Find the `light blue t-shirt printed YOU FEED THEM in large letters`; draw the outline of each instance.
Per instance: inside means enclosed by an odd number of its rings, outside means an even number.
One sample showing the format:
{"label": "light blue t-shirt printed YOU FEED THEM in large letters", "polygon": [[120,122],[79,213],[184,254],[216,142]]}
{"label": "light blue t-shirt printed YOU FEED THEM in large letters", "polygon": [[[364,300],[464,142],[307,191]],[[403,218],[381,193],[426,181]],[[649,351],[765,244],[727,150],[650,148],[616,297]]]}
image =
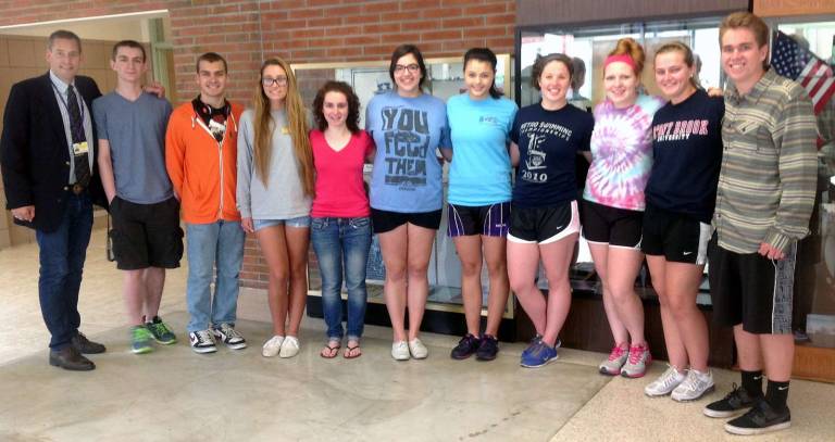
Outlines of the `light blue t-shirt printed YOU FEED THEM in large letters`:
{"label": "light blue t-shirt printed YOU FEED THEM in large letters", "polygon": [[444,101],[427,93],[415,98],[397,92],[376,96],[365,110],[365,130],[377,147],[371,206],[400,213],[440,210],[437,149],[450,146]]}

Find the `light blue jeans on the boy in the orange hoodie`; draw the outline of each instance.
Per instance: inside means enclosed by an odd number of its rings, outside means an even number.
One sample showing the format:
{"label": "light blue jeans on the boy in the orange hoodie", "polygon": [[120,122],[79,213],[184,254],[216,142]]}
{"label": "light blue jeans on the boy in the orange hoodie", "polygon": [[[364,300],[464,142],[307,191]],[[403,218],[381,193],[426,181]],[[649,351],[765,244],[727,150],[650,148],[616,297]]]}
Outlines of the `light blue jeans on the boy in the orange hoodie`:
{"label": "light blue jeans on the boy in the orange hoodie", "polygon": [[240,291],[238,276],[244,263],[244,229],[240,228],[239,222],[186,224],[186,304],[190,316],[187,326],[189,333],[223,323],[235,325]]}

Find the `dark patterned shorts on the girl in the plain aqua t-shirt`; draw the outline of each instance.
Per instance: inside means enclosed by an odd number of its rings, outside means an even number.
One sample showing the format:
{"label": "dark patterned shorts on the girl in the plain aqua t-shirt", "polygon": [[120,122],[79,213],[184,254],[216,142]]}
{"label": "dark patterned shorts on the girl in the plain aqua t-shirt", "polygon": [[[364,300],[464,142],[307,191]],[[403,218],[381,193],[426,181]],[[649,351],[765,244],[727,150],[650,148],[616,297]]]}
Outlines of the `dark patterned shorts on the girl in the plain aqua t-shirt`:
{"label": "dark patterned shorts on the girl in the plain aqua t-shirt", "polygon": [[447,235],[450,237],[508,236],[510,228],[510,202],[471,206],[447,205]]}

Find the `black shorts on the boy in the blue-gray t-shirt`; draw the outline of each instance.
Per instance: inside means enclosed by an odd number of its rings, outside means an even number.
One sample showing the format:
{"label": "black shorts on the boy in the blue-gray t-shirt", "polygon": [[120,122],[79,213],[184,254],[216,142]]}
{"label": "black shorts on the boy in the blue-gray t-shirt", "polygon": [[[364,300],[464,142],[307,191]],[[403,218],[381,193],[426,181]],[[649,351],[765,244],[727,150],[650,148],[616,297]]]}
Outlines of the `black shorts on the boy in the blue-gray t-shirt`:
{"label": "black shorts on the boy in the blue-gray t-shirt", "polygon": [[179,202],[174,197],[154,204],[136,204],[115,197],[110,203],[110,216],[116,268],[179,267],[183,229]]}

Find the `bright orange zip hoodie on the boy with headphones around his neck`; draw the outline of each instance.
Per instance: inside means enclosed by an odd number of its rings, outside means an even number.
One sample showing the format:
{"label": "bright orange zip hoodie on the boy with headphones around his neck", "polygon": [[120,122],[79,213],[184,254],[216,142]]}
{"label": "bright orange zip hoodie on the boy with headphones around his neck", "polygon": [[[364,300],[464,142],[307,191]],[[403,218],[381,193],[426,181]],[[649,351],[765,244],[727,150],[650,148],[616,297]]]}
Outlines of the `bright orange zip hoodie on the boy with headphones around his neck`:
{"label": "bright orange zip hoodie on the boy with headphones around his neck", "polygon": [[165,166],[183,206],[183,219],[209,224],[240,220],[235,203],[238,119],[244,108],[232,104],[223,142],[217,142],[191,102],[177,106],[165,134]]}

